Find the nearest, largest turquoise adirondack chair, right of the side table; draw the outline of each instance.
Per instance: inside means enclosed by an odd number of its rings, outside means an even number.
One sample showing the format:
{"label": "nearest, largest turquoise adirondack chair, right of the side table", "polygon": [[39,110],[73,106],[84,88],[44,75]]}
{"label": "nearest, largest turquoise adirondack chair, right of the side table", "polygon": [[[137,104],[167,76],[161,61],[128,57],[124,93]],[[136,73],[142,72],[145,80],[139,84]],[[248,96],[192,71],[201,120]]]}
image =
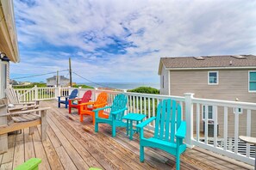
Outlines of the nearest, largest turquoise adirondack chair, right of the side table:
{"label": "nearest, largest turquoise adirondack chair, right of the side table", "polygon": [[[143,128],[155,120],[154,136],[143,137]],[[140,129],[140,161],[144,161],[144,147],[165,150],[176,156],[176,169],[179,169],[179,156],[185,151],[183,139],[186,134],[186,122],[181,120],[181,107],[175,100],[163,100],[159,103],[157,117],[148,118],[137,124]],[[176,139],[176,140],[175,140]]]}

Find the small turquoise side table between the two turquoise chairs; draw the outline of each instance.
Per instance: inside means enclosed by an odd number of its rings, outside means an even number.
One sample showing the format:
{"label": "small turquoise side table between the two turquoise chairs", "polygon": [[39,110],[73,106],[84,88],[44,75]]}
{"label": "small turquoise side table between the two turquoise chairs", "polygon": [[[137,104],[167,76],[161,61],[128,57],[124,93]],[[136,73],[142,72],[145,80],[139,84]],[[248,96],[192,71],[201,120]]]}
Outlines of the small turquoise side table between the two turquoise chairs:
{"label": "small turquoise side table between the two turquoise chairs", "polygon": [[123,119],[127,120],[126,135],[128,136],[128,133],[130,133],[130,140],[133,140],[134,131],[138,132],[137,128],[136,129],[133,128],[133,122],[136,121],[137,124],[139,124],[139,122],[142,122],[143,118],[145,117],[146,117],[145,114],[139,114],[134,112],[130,112],[127,115],[122,117]]}

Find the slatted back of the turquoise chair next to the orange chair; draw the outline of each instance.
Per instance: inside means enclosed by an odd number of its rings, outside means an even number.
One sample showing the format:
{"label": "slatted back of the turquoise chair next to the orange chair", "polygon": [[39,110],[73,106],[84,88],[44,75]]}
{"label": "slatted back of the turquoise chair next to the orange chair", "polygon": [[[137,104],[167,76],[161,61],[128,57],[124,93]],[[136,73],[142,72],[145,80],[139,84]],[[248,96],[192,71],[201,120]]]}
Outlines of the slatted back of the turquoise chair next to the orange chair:
{"label": "slatted back of the turquoise chair next to the orange chair", "polygon": [[[110,111],[110,114],[109,114],[109,118],[111,118],[111,112],[116,112],[118,110],[121,110],[123,108],[126,108],[127,106],[127,96],[125,94],[117,94],[114,101],[113,101],[113,104],[111,106],[111,111]],[[120,112],[119,114],[116,115],[116,120],[118,121],[122,121],[122,117],[124,115],[124,112]]]}

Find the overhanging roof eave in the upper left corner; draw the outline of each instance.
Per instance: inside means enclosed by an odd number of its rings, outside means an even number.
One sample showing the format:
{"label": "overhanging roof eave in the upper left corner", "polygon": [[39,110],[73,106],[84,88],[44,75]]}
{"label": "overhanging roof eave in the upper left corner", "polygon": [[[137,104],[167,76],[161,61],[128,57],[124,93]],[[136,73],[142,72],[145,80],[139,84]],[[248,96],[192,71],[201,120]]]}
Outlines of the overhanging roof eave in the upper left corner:
{"label": "overhanging roof eave in the upper left corner", "polygon": [[0,0],[0,52],[4,52],[12,62],[19,62],[16,24],[13,1]]}

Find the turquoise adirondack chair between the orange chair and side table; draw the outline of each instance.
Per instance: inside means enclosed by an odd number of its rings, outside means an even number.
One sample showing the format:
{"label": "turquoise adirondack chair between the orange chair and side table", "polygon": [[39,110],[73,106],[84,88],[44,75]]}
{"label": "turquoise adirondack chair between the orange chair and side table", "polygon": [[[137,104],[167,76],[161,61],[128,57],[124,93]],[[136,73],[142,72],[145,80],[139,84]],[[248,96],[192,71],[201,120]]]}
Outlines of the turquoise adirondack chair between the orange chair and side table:
{"label": "turquoise adirondack chair between the orange chair and side table", "polygon": [[[110,108],[109,118],[99,118],[98,112]],[[124,112],[127,110],[127,96],[125,94],[117,94],[112,106],[105,106],[93,110],[95,112],[95,132],[98,131],[98,124],[109,124],[112,126],[112,137],[116,137],[116,127],[126,127],[126,123],[122,121]]]}

